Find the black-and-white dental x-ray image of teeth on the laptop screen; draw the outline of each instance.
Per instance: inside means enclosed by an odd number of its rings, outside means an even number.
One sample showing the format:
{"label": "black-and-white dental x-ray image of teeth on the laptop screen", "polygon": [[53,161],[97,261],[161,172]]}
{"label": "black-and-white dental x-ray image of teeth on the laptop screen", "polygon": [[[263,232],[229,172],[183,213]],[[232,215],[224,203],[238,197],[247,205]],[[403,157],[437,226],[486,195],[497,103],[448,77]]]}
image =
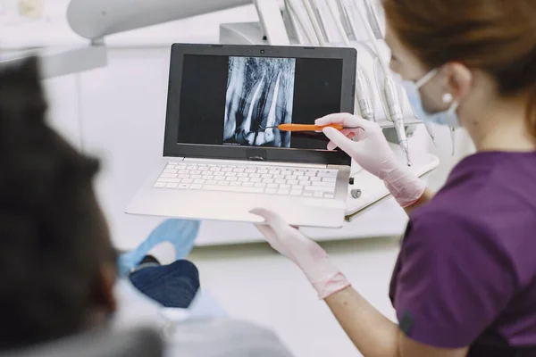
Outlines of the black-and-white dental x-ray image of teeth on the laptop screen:
{"label": "black-and-white dental x-ray image of teeth on the laptop screen", "polygon": [[230,57],[223,144],[290,147],[296,60]]}

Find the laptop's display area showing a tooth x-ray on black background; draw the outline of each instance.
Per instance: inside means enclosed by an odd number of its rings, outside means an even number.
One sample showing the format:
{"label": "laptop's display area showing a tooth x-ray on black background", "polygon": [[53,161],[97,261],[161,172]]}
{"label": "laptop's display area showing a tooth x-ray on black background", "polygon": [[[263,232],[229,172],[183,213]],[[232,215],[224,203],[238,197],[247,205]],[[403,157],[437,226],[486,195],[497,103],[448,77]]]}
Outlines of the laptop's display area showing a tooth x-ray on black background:
{"label": "laptop's display area showing a tooth x-ray on black background", "polygon": [[340,112],[341,59],[184,57],[178,142],[325,150],[321,133],[286,132]]}

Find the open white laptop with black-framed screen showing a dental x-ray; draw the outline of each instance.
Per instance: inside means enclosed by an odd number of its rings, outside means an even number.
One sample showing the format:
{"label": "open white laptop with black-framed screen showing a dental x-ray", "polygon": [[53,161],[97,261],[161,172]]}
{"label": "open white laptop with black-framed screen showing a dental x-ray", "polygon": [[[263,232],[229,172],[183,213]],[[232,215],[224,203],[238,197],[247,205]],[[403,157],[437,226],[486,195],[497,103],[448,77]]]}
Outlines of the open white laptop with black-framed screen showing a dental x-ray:
{"label": "open white laptop with black-framed screen showing a dental x-ray", "polygon": [[299,46],[172,46],[163,159],[126,212],[338,228],[351,160],[314,124],[353,112],[356,51]]}

